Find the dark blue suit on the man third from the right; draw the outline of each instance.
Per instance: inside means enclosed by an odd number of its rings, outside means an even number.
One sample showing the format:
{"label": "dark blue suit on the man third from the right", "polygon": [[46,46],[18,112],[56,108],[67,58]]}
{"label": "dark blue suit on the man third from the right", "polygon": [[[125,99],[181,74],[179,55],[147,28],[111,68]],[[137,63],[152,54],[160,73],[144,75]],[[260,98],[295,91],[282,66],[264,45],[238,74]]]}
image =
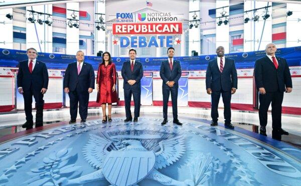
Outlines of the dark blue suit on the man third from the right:
{"label": "dark blue suit on the man third from the right", "polygon": [[[173,68],[171,69],[169,61],[164,60],[161,62],[160,67],[160,77],[163,80],[162,83],[162,93],[163,93],[163,117],[167,119],[167,108],[168,108],[168,99],[171,93],[172,104],[173,104],[173,117],[174,120],[178,119],[178,88],[179,88],[179,79],[182,75],[181,64],[179,60],[174,60]],[[169,87],[166,83],[167,81],[175,81],[173,87]]]}

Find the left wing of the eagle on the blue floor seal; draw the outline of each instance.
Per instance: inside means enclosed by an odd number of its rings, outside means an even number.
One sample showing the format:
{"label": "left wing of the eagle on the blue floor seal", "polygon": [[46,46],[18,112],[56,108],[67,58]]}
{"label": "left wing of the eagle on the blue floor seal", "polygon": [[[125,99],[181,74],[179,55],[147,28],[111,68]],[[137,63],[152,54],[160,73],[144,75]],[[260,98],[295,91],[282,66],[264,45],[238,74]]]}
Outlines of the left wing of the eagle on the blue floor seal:
{"label": "left wing of the eagle on the blue floor seal", "polygon": [[102,133],[90,134],[88,143],[83,148],[85,159],[95,168],[101,167],[106,155],[109,153],[107,147],[113,143]]}

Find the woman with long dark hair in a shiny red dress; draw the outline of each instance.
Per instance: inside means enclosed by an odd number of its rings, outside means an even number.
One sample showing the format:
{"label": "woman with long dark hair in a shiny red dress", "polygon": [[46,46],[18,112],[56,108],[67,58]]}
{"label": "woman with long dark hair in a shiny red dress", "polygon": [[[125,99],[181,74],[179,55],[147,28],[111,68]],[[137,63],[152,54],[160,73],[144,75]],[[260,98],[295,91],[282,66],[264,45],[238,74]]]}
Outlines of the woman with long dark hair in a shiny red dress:
{"label": "woman with long dark hair in a shiny red dress", "polygon": [[[102,54],[102,63],[99,63],[97,72],[97,100],[101,102],[103,118],[102,122],[112,121],[111,110],[112,102],[117,102],[116,92],[116,66],[112,63],[111,55],[109,52]],[[106,115],[106,103],[108,103],[109,113]]]}

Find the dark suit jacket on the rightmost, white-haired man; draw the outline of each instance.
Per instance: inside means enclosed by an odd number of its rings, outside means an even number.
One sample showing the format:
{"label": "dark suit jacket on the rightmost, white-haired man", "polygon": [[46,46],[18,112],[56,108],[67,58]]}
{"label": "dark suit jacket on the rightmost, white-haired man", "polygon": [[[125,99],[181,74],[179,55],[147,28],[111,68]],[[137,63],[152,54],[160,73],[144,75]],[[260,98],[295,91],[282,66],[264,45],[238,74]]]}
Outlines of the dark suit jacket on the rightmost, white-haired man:
{"label": "dark suit jacket on the rightmost, white-haired man", "polygon": [[263,87],[265,91],[285,91],[285,87],[292,87],[290,72],[285,58],[277,57],[278,69],[268,56],[255,61],[254,76],[257,89]]}

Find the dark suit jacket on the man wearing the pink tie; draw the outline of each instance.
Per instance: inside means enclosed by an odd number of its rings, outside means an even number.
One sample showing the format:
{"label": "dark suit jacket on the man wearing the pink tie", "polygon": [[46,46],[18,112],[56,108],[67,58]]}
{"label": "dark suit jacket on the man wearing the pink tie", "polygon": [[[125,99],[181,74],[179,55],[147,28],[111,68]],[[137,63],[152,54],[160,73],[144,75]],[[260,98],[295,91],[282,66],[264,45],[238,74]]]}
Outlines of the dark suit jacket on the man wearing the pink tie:
{"label": "dark suit jacket on the man wearing the pink tie", "polygon": [[79,91],[94,89],[95,73],[91,64],[83,62],[80,73],[77,74],[77,62],[69,63],[65,71],[64,88],[68,87],[71,91],[78,86]]}

